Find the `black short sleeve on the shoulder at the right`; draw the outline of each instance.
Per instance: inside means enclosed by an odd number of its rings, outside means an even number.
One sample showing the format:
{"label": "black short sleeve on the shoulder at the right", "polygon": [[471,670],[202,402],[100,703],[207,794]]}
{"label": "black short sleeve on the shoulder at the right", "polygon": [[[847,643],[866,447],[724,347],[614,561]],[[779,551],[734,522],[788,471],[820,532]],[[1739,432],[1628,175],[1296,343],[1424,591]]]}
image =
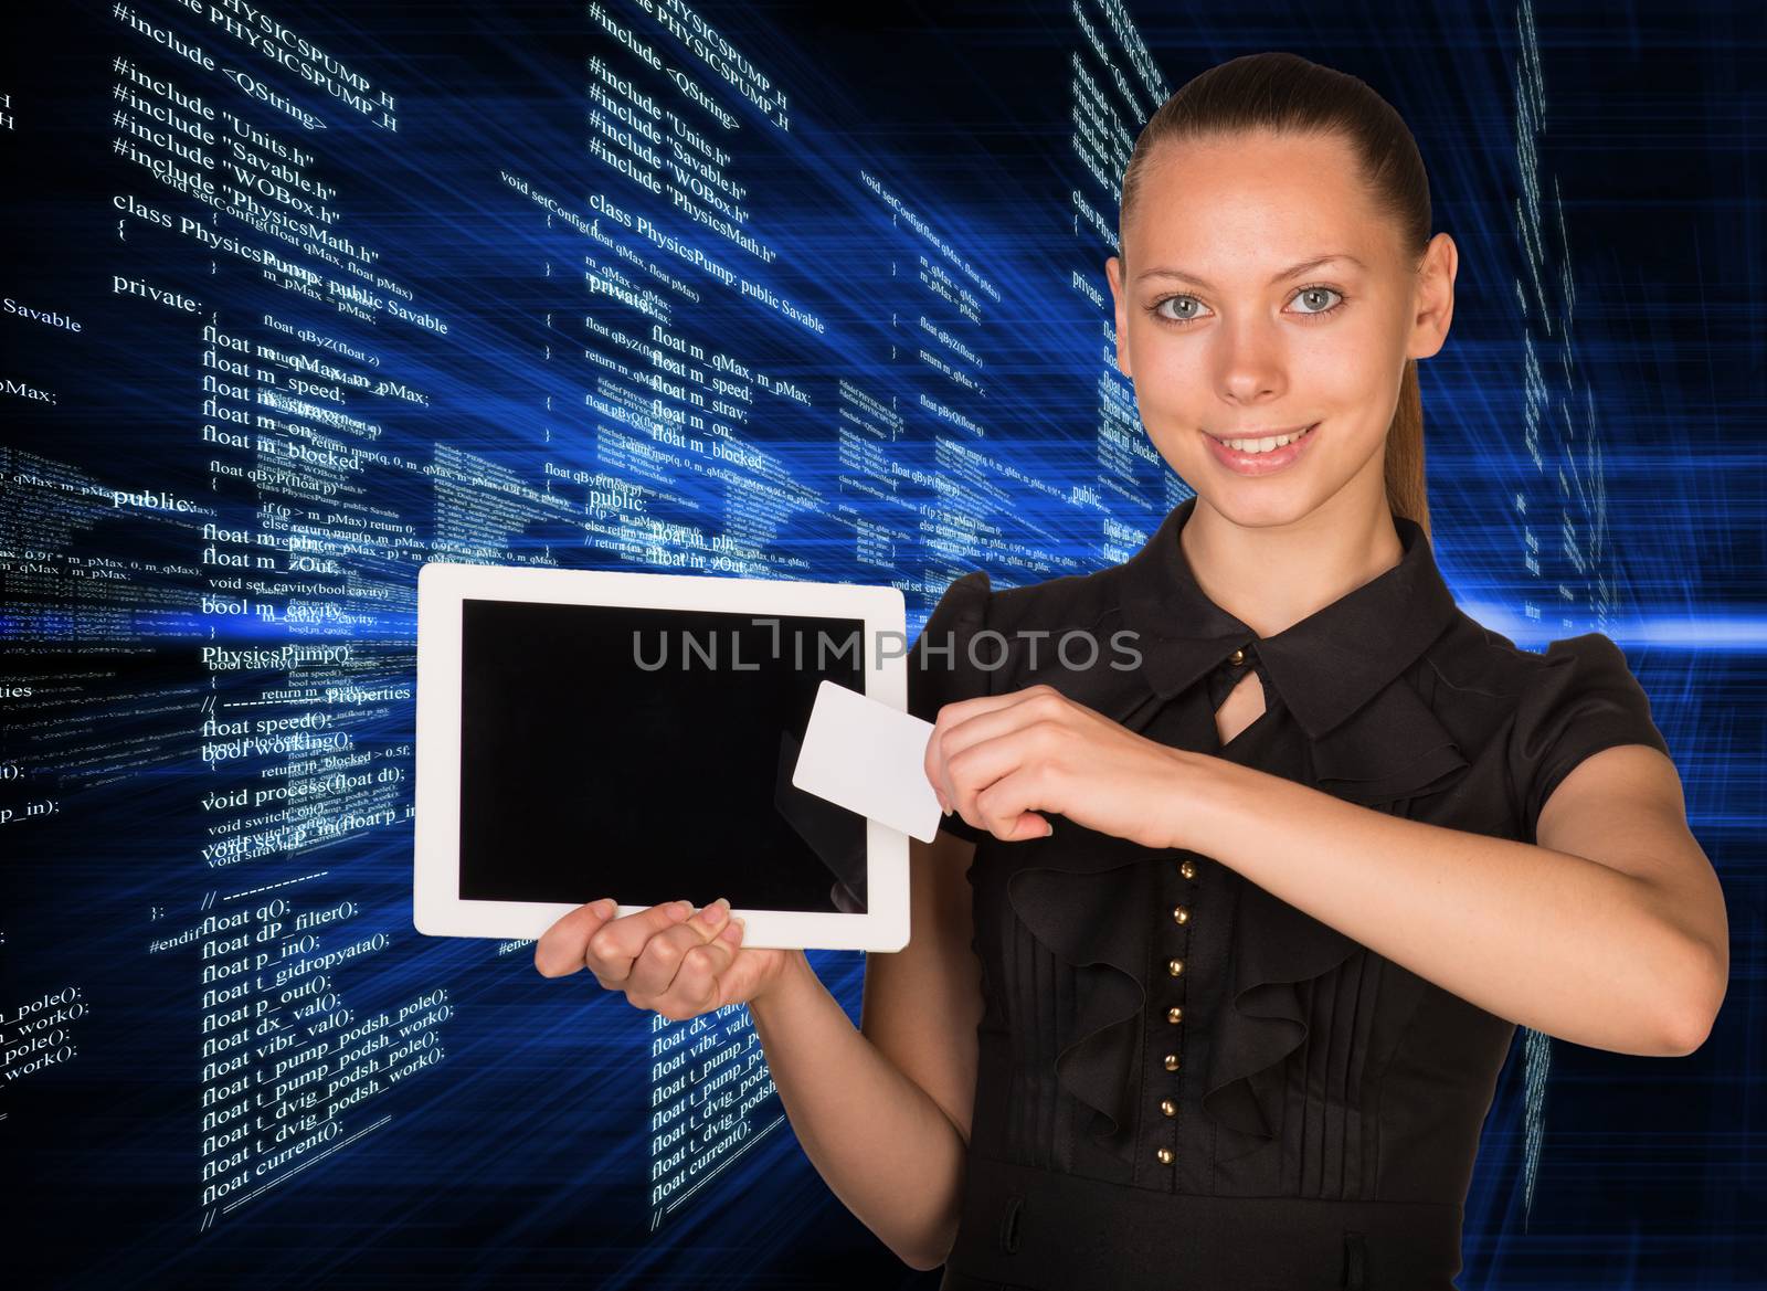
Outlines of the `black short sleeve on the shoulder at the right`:
{"label": "black short sleeve on the shoulder at the right", "polygon": [[1523,839],[1536,839],[1541,807],[1578,763],[1617,744],[1647,744],[1668,756],[1650,719],[1650,698],[1626,655],[1601,632],[1553,641],[1516,710],[1511,774]]}

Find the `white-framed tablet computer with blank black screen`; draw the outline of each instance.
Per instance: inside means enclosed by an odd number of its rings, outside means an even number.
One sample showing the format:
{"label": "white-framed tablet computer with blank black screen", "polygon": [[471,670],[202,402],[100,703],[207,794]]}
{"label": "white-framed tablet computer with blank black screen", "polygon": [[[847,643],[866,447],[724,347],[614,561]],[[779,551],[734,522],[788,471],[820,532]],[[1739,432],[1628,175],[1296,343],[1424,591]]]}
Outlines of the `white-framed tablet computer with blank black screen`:
{"label": "white-framed tablet computer with blank black screen", "polygon": [[906,676],[891,586],[422,565],[417,931],[728,897],[746,945],[901,950],[908,835],[792,774],[825,678],[906,710]]}

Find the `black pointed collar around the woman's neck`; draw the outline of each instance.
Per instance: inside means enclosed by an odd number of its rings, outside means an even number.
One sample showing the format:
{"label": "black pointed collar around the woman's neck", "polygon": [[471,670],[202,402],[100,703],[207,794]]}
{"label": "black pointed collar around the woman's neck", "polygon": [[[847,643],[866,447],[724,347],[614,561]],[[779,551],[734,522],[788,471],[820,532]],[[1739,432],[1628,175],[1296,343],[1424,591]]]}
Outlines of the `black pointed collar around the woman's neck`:
{"label": "black pointed collar around the woman's neck", "polygon": [[1454,618],[1428,535],[1392,512],[1399,563],[1276,636],[1256,630],[1210,600],[1191,574],[1179,530],[1196,510],[1186,498],[1122,565],[1122,622],[1136,638],[1141,673],[1161,698],[1179,694],[1237,646],[1256,652],[1283,703],[1320,738],[1398,676]]}

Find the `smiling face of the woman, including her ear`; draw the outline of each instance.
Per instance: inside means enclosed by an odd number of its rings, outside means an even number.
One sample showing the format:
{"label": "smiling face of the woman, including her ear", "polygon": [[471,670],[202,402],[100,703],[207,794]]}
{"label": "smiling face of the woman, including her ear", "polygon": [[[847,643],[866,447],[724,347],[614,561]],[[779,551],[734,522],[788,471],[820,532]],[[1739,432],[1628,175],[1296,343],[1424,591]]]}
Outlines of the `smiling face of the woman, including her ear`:
{"label": "smiling face of the woman, including her ear", "polygon": [[[1124,260],[1104,272],[1117,367],[1154,447],[1240,525],[1286,525],[1339,495],[1376,505],[1405,360],[1447,336],[1452,238],[1412,261],[1338,136],[1166,143],[1149,162]],[[1214,447],[1304,427],[1299,452],[1242,470]]]}

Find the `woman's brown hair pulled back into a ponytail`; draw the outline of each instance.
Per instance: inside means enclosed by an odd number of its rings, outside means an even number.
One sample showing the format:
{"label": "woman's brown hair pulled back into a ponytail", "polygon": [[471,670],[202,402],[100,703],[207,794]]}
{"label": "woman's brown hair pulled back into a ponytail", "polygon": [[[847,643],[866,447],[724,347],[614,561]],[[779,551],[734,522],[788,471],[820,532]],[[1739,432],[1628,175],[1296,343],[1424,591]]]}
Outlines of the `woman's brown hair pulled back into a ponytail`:
{"label": "woman's brown hair pulled back into a ponytail", "polygon": [[[1343,136],[1362,162],[1362,178],[1376,208],[1396,221],[1401,245],[1422,258],[1430,245],[1430,177],[1410,129],[1366,81],[1301,55],[1269,51],[1232,58],[1200,72],[1141,127],[1124,170],[1117,217],[1126,267],[1124,233],[1154,148],[1170,140],[1258,129]],[[1399,404],[1387,427],[1385,480],[1387,505],[1417,521],[1428,535],[1424,408],[1415,359],[1405,360]]]}

